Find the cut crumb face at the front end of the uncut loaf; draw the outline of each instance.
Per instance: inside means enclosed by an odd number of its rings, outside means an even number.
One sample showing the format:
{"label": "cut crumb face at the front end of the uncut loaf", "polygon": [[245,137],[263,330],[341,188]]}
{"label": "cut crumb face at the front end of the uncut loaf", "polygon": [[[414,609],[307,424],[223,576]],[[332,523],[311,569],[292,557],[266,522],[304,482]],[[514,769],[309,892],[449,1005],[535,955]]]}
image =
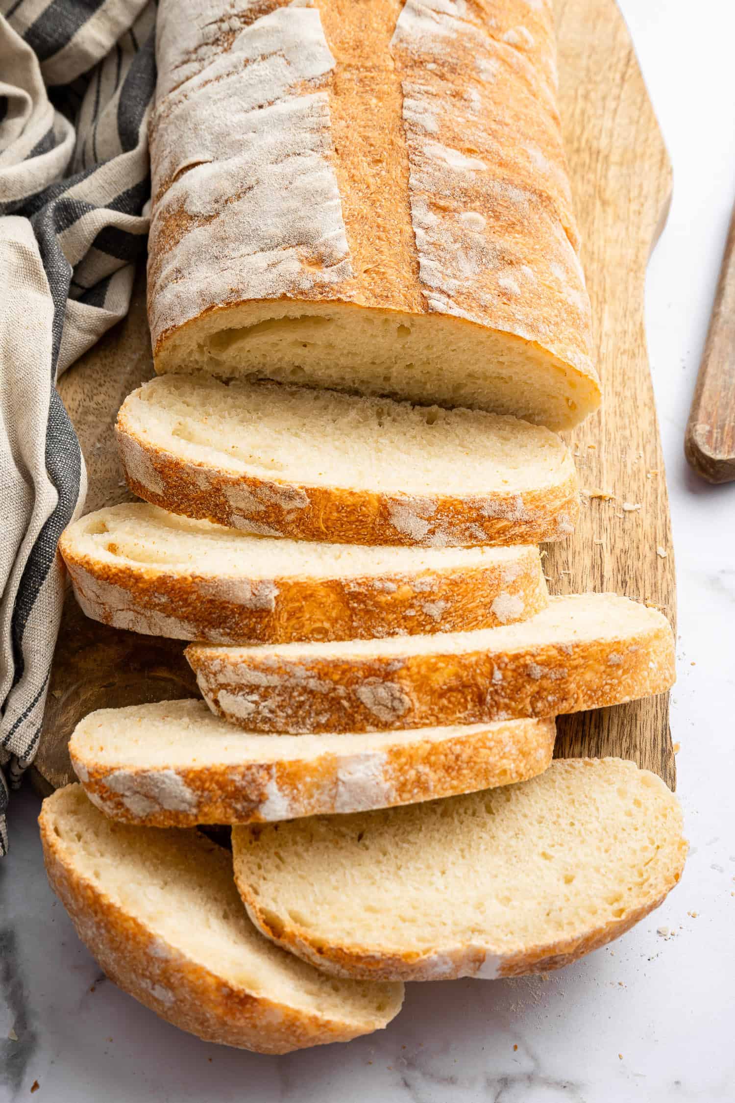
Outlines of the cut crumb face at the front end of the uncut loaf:
{"label": "cut crumb face at the front end of the uncut loaf", "polygon": [[251,377],[509,414],[560,431],[599,406],[596,375],[461,318],[353,303],[210,309],[155,347],[159,373]]}

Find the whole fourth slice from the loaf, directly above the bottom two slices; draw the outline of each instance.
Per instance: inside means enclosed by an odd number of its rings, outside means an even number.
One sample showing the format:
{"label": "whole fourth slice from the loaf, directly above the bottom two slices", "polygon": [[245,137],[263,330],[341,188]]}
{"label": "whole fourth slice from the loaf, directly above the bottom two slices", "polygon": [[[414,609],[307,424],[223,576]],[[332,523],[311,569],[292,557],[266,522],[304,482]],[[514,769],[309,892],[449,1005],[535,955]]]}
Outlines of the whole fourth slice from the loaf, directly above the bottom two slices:
{"label": "whole fourth slice from the loaf, directly above the bottom two slices", "polygon": [[426,801],[545,770],[555,724],[505,720],[369,735],[258,736],[202,700],[102,708],[69,742],[106,815],[154,827],[290,820]]}

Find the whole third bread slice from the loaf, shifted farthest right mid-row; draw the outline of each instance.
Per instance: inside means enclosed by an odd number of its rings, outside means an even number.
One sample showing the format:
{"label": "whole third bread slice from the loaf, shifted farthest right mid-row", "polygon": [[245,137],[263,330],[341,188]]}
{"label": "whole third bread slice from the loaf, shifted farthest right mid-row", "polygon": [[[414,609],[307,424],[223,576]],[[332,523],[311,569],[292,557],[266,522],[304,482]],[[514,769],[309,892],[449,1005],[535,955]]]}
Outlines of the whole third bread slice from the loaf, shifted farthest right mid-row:
{"label": "whole third bread slice from the loaf, shifted farthest right mid-row", "polygon": [[615,593],[549,599],[518,624],[186,657],[213,711],[251,731],[380,731],[618,705],[674,681],[673,633]]}

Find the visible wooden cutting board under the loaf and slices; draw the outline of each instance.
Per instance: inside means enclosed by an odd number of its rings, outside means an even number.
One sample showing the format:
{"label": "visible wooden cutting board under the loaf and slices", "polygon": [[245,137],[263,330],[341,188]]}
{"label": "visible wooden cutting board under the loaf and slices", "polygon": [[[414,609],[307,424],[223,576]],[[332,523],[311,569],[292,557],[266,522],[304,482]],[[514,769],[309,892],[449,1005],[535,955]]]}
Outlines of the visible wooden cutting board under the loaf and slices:
{"label": "visible wooden cutting board under the loaf and slices", "polygon": [[[669,507],[644,332],[646,264],[668,212],[671,169],[614,0],[556,0],[556,15],[560,109],[605,400],[569,435],[590,493],[572,539],[550,546],[545,572],[552,592],[616,590],[673,619]],[[152,375],[141,272],[128,318],[60,384],[87,461],[88,511],[129,499],[112,424],[125,396]],[[36,784],[48,791],[72,780],[68,737],[91,709],[196,695],[183,646],[88,621],[67,595]],[[634,759],[673,789],[668,694],[562,717],[559,728],[558,756]]]}

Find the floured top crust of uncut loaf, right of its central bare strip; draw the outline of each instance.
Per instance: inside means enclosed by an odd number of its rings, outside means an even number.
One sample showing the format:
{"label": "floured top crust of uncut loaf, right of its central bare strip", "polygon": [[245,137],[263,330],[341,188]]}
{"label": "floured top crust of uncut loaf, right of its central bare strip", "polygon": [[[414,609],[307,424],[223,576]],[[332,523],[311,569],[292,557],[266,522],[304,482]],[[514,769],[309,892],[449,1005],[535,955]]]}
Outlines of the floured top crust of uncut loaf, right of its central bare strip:
{"label": "floured top crust of uncut loaf, right of its central bare strip", "polygon": [[593,375],[550,6],[408,0],[391,47],[429,309]]}

